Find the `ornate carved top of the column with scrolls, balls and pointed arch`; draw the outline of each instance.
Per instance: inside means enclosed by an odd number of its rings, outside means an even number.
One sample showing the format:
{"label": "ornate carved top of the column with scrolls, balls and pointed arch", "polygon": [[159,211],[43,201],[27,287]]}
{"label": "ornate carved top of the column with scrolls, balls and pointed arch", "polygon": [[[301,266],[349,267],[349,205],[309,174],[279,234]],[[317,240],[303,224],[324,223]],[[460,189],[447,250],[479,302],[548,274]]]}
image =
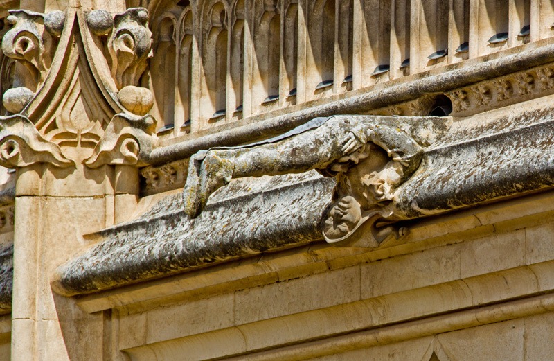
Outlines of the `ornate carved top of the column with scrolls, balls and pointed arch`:
{"label": "ornate carved top of the column with scrolls, balls and pointed arch", "polygon": [[152,51],[148,11],[13,10],[8,22],[3,54],[27,73],[2,67],[2,79],[14,79],[3,107],[15,115],[0,118],[1,164],[144,166],[153,97],[136,85]]}

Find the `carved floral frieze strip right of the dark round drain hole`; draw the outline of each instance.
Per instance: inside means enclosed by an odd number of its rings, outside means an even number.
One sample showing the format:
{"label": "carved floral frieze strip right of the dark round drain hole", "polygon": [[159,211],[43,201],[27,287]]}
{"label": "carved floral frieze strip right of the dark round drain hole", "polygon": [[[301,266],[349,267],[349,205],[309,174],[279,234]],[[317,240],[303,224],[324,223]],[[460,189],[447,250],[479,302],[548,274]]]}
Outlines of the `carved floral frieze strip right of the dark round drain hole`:
{"label": "carved floral frieze strip right of the dark round drain hole", "polygon": [[446,96],[452,100],[452,115],[470,116],[553,93],[554,66],[548,64],[456,89]]}

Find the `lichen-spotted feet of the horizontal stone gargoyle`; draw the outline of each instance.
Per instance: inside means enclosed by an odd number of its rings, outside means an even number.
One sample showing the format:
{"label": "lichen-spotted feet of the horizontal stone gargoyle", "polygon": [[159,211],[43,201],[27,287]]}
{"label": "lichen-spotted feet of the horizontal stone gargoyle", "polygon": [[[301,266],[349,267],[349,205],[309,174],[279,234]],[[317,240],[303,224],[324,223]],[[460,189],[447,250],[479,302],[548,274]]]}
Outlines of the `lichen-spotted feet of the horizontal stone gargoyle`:
{"label": "lichen-spotted feet of the horizontal stone gargoyle", "polygon": [[190,218],[202,213],[212,193],[231,182],[233,169],[233,161],[213,152],[199,152],[190,158],[184,191],[185,212]]}

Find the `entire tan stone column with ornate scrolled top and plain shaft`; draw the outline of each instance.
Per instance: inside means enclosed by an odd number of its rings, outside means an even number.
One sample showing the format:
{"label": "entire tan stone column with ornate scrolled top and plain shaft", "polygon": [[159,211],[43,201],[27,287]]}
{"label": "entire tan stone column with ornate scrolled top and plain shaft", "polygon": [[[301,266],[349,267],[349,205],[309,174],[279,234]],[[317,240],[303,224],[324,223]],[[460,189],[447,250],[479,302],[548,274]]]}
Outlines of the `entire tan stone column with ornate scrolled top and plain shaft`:
{"label": "entire tan stone column with ornate scrolled top and plain shaft", "polygon": [[17,169],[12,360],[116,359],[103,354],[104,317],[53,293],[50,278],[94,243],[86,234],[136,205],[154,127],[152,94],[137,87],[151,56],[148,11],[73,5],[7,20],[0,164]]}

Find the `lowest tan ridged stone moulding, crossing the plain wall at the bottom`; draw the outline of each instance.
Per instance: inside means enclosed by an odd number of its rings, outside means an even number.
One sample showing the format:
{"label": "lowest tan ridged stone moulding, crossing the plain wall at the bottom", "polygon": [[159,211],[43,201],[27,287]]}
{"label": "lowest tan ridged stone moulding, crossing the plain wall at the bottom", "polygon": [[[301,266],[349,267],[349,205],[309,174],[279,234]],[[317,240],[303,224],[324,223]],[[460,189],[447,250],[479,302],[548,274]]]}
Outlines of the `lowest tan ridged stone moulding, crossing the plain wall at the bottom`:
{"label": "lowest tan ridged stone moulding, crossing the plain wall at the bottom", "polygon": [[[193,358],[198,360],[222,356],[235,356],[233,360],[300,360],[314,355],[330,355],[339,349],[344,351],[388,344],[539,315],[554,311],[553,284],[549,276],[552,267],[552,262],[518,267],[382,297],[235,324],[217,331],[127,346],[123,351],[139,355],[148,350],[163,360],[178,360],[177,355],[182,355],[183,350],[195,355]],[[352,320],[355,320],[354,326]],[[287,332],[291,329],[296,332]],[[208,340],[226,346],[209,349],[205,347]],[[269,348],[273,350],[266,353]]]}

